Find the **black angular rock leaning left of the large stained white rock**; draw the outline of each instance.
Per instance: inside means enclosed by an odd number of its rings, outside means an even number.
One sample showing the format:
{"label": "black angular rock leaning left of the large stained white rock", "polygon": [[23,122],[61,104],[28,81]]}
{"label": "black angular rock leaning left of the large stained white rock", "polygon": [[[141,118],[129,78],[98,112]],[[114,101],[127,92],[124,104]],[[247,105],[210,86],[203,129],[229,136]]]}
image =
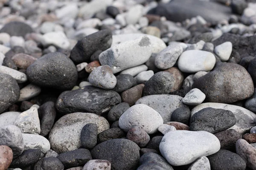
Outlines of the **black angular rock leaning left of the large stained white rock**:
{"label": "black angular rock leaning left of the large stained white rock", "polygon": [[76,64],[89,62],[90,57],[97,50],[105,51],[111,47],[112,32],[110,30],[98,31],[79,40],[70,53],[70,59]]}

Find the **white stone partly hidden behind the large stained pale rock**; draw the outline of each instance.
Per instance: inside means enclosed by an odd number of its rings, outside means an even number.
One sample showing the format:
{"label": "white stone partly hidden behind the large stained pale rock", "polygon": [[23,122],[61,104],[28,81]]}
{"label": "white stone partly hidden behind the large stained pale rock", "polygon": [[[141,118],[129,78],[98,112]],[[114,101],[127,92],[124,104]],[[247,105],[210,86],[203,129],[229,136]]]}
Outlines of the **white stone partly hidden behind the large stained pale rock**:
{"label": "white stone partly hidden behind the large stained pale rock", "polygon": [[157,38],[152,35],[148,34],[119,34],[119,35],[113,35],[113,41],[111,46],[115,46],[119,43],[129,41],[129,40],[136,40],[137,38],[147,36],[150,39],[151,45],[151,51],[152,53],[158,53],[164,48],[166,48],[166,44],[161,40],[160,38]]}

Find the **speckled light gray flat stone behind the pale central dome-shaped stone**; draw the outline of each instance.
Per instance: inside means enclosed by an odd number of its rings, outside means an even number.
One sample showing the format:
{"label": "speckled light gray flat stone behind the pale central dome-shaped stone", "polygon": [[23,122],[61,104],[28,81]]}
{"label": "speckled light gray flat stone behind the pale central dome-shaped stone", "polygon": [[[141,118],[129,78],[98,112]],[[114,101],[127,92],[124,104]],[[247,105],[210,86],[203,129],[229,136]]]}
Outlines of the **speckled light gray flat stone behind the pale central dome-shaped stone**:
{"label": "speckled light gray flat stone behind the pale central dome-shaped stone", "polygon": [[169,94],[149,95],[137,100],[135,105],[148,105],[162,116],[163,122],[170,122],[173,111],[180,107],[186,107],[182,99],[180,96]]}

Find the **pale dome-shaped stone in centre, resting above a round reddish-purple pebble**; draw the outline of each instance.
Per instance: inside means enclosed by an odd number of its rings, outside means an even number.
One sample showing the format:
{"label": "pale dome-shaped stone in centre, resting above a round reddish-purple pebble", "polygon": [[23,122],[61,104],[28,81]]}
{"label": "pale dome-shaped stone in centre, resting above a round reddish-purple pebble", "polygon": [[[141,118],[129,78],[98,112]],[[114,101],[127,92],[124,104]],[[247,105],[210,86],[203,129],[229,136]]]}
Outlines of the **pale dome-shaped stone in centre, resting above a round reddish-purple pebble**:
{"label": "pale dome-shaped stone in centre, resting above a round reddish-purple pebble", "polygon": [[146,133],[153,134],[157,132],[157,128],[160,125],[163,125],[161,115],[144,104],[138,104],[128,108],[119,118],[119,127],[125,132],[128,132],[128,130],[135,126],[139,126]]}

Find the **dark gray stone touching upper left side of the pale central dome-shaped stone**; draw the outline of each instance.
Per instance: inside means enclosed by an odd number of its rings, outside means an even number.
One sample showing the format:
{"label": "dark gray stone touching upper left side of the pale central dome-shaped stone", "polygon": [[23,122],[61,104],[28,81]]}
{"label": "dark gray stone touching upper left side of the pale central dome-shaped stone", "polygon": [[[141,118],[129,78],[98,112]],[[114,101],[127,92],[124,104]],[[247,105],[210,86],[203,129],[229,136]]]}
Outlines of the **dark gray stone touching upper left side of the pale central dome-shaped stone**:
{"label": "dark gray stone touching upper left side of the pale central dome-shaped stone", "polygon": [[125,113],[128,108],[130,108],[130,106],[125,102],[114,105],[108,112],[108,120],[112,122],[119,120],[120,116]]}

